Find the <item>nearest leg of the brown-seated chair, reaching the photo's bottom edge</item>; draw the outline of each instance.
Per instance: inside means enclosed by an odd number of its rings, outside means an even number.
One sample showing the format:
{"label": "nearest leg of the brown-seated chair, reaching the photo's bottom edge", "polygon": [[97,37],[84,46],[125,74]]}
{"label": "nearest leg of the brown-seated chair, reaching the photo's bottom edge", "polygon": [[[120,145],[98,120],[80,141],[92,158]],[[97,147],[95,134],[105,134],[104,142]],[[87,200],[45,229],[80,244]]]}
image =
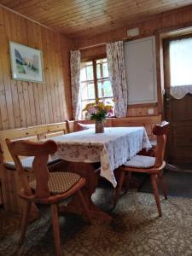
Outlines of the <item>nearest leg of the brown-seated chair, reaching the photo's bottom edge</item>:
{"label": "nearest leg of the brown-seated chair, reaching the photo's bottom edge", "polygon": [[51,205],[52,224],[55,238],[56,256],[63,256],[61,247],[61,236],[58,218],[58,206],[57,204]]}

